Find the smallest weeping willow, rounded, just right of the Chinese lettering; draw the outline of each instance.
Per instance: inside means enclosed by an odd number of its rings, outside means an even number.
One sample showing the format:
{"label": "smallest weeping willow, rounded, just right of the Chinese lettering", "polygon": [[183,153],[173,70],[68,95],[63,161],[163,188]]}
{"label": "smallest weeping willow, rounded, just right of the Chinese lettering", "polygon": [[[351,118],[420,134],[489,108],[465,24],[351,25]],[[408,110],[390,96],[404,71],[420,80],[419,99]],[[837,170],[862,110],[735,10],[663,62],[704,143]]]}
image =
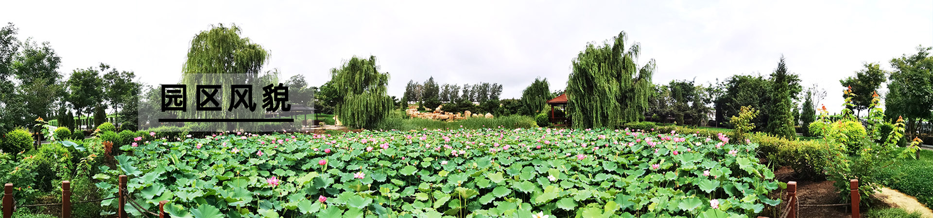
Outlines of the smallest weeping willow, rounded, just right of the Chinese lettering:
{"label": "smallest weeping willow, rounded, just right of the Chinese lettering", "polygon": [[330,69],[330,82],[337,89],[337,108],[343,125],[351,128],[372,128],[392,109],[392,98],[386,93],[388,73],[379,73],[376,57],[353,57],[340,69]]}

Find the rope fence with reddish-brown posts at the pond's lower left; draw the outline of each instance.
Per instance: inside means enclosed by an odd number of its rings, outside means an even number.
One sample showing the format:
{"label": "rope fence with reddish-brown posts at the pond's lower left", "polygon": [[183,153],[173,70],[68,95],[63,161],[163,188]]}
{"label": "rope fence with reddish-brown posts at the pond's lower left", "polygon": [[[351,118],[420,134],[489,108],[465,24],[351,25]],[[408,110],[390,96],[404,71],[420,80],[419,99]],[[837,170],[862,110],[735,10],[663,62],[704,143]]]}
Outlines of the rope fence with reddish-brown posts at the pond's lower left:
{"label": "rope fence with reddish-brown posts at the pond's lower left", "polygon": [[[21,206],[16,206],[16,205],[14,204],[14,201],[15,201],[15,200],[13,199],[13,184],[5,184],[5,185],[4,185],[4,196],[3,196],[3,218],[11,218],[11,217],[13,216],[13,211],[16,211],[16,209],[18,209],[18,208],[34,208],[34,207],[45,207],[45,206],[62,206],[62,217],[63,217],[63,218],[70,218],[70,217],[71,217],[71,206],[72,206],[72,205],[74,205],[74,204],[83,204],[83,203],[91,203],[91,202],[100,202],[100,201],[104,201],[104,200],[108,200],[108,199],[118,199],[118,205],[117,205],[118,210],[117,210],[117,214],[116,214],[116,215],[110,216],[110,217],[107,217],[107,218],[126,218],[126,217],[127,217],[127,213],[126,213],[126,208],[125,208],[125,207],[126,207],[127,203],[129,203],[130,206],[132,206],[132,209],[133,209],[133,210],[139,211],[139,213],[143,214],[143,216],[146,216],[146,218],[150,217],[150,215],[155,216],[155,217],[159,217],[159,218],[168,217],[168,213],[165,213],[165,210],[164,210],[165,204],[168,203],[168,200],[162,200],[162,201],[159,202],[159,212],[158,212],[158,213],[157,213],[157,212],[148,211],[148,210],[146,210],[145,208],[143,208],[142,206],[140,206],[139,203],[136,202],[136,200],[135,200],[134,198],[132,198],[132,195],[127,191],[126,183],[127,183],[127,176],[126,176],[126,175],[120,175],[120,176],[119,176],[119,187],[118,187],[118,193],[117,193],[118,196],[117,196],[117,197],[101,198],[101,199],[91,199],[91,200],[82,200],[82,201],[77,201],[77,202],[71,202],[71,194],[72,194],[72,193],[71,193],[71,182],[69,182],[69,181],[63,181],[63,182],[62,182],[62,202],[61,202],[61,203],[31,204],[31,205],[21,205]],[[129,200],[129,202],[127,202],[128,200]]]}

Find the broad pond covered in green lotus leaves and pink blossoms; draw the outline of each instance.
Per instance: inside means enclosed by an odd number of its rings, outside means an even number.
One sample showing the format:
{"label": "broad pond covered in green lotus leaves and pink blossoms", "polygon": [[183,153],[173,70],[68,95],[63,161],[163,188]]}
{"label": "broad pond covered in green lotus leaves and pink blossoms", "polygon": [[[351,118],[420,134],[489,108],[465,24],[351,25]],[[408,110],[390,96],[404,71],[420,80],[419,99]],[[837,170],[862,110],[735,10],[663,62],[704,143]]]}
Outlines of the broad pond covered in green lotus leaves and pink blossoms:
{"label": "broad pond covered in green lotus leaves and pink blossoms", "polygon": [[[117,175],[173,217],[754,217],[784,184],[757,145],[628,129],[227,132],[123,145]],[[104,201],[112,208],[115,200]],[[127,206],[127,211],[134,210]],[[136,213],[135,215],[140,215]]]}

